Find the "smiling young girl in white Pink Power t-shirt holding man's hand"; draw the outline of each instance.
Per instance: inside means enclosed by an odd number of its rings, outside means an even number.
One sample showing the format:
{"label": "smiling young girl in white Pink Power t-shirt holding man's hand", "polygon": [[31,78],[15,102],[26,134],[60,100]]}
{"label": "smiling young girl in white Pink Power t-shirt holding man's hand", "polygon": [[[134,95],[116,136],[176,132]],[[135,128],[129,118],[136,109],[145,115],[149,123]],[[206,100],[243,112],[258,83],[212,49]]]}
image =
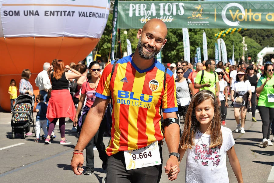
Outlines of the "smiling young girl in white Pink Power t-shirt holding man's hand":
{"label": "smiling young girl in white Pink Power t-shirt holding man's hand", "polygon": [[[185,182],[229,182],[226,153],[238,182],[243,182],[232,131],[221,126],[215,95],[208,90],[196,93],[186,114],[179,153],[187,151]],[[172,167],[170,177],[178,167]]]}

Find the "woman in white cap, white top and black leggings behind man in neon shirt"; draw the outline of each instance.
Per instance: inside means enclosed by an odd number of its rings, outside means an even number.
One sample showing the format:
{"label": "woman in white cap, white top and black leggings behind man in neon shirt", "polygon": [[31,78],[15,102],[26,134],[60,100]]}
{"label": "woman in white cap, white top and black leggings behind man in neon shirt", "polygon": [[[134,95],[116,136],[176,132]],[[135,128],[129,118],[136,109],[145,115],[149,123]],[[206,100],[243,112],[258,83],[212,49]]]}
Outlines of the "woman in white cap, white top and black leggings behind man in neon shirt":
{"label": "woman in white cap, white top and black leggings behind man in neon shirt", "polygon": [[223,75],[225,74],[224,71],[220,68],[216,69],[215,72],[218,74],[218,79],[219,79],[219,85],[220,85],[220,94],[219,94],[219,99],[221,102],[221,117],[222,117],[222,125],[226,125],[226,117],[227,117],[227,81],[223,79]]}

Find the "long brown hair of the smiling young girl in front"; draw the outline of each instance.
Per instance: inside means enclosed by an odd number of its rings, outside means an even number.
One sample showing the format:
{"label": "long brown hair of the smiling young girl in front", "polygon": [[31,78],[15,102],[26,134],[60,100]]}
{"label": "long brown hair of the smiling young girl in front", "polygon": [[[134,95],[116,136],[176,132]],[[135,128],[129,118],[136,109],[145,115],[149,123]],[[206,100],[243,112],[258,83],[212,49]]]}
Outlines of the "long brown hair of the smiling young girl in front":
{"label": "long brown hair of the smiling young girl in front", "polygon": [[[210,94],[210,95],[209,95]],[[184,120],[184,130],[181,137],[180,148],[192,149],[195,145],[195,133],[199,127],[199,122],[195,116],[195,108],[198,104],[209,99],[214,106],[214,116],[210,125],[210,148],[221,146],[223,143],[221,131],[221,112],[218,102],[213,92],[202,90],[196,93],[189,104],[188,111]]]}

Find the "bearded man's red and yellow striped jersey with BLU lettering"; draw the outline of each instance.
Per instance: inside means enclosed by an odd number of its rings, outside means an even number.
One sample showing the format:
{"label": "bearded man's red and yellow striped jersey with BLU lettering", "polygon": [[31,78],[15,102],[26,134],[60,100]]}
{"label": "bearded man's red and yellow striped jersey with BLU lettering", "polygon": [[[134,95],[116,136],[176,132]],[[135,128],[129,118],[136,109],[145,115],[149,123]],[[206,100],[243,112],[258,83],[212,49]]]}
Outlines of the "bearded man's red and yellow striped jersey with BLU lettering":
{"label": "bearded man's red and yellow striped jersey with BLU lettering", "polygon": [[[160,105],[165,113],[176,112],[176,88],[173,73],[156,59],[151,67],[140,70],[132,55],[106,65],[100,78],[96,97],[112,98],[111,139],[107,146],[110,156],[118,151],[139,149],[162,140]],[[111,78],[111,81],[110,81]]]}

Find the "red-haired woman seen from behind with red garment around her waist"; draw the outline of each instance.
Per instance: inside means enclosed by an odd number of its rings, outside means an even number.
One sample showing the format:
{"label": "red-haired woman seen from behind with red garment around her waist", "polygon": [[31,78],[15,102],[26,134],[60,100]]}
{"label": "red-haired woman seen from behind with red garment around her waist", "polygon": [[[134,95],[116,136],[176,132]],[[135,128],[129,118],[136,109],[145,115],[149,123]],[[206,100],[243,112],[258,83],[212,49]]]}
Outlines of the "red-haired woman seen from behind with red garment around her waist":
{"label": "red-haired woman seen from behind with red garment around her waist", "polygon": [[[65,68],[72,72],[65,72]],[[68,91],[68,80],[79,78],[81,74],[70,66],[64,66],[63,60],[57,60],[54,64],[54,71],[51,73],[51,98],[48,101],[47,119],[51,122],[48,126],[48,134],[45,144],[51,144],[50,134],[59,119],[59,129],[61,133],[60,144],[70,144],[65,138],[65,117],[74,120],[76,109],[72,97]]]}

